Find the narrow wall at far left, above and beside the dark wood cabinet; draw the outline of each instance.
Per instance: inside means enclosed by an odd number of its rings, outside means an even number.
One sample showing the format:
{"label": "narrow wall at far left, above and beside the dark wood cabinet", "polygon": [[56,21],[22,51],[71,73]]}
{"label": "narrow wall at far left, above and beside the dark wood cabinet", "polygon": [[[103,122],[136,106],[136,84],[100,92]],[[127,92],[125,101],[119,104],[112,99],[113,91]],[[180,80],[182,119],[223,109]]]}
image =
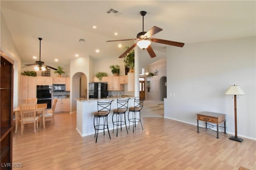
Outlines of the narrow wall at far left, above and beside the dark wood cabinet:
{"label": "narrow wall at far left, above and beside the dark wood cabinet", "polygon": [[8,57],[10,57],[14,61],[14,77],[13,77],[13,108],[18,107],[20,99],[20,67],[21,67],[21,59],[20,55],[16,49],[16,46],[12,40],[10,32],[6,26],[4,18],[1,14],[1,27],[0,27],[0,47],[1,51],[3,51]]}

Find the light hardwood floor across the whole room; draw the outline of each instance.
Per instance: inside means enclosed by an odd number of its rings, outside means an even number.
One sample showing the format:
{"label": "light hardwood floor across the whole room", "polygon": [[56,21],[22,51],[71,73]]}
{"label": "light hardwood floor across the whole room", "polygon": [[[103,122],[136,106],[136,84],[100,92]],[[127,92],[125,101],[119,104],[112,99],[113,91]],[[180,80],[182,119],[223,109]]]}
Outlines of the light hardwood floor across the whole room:
{"label": "light hardwood floor across the whole room", "polygon": [[[111,114],[109,115],[109,117]],[[196,121],[196,120],[195,120]],[[161,117],[142,117],[134,133],[132,128],[81,137],[76,131],[76,114],[55,115],[55,125],[34,133],[26,125],[20,135],[13,135],[13,163],[26,170],[238,170],[240,166],[256,169],[256,141],[229,140],[230,135],[216,133]]]}

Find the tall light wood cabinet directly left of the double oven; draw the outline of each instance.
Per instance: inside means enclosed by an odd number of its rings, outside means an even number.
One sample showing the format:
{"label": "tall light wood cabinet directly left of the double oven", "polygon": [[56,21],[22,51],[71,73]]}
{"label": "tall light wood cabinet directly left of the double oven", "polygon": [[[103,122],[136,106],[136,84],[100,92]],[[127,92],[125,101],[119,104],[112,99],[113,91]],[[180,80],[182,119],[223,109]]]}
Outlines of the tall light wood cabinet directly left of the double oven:
{"label": "tall light wood cabinet directly left of the double oven", "polygon": [[26,103],[28,98],[36,98],[35,77],[20,76],[20,103]]}

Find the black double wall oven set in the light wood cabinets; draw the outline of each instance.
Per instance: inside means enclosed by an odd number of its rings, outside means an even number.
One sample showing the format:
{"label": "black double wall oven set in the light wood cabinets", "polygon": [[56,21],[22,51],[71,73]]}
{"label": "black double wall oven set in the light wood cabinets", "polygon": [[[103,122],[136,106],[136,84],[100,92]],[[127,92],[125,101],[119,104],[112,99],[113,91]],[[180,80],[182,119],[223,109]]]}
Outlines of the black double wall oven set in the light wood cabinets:
{"label": "black double wall oven set in the light wood cabinets", "polygon": [[47,109],[52,108],[52,86],[36,85],[37,103],[47,103]]}

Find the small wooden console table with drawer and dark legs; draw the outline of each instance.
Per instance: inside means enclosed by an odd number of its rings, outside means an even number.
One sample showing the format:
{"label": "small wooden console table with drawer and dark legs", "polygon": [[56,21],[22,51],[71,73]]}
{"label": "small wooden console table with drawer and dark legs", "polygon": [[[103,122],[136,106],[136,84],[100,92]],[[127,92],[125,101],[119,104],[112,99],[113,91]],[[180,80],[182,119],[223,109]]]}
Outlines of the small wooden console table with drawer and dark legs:
{"label": "small wooden console table with drawer and dark legs", "polygon": [[[225,114],[222,113],[213,113],[213,112],[200,112],[197,115],[197,132],[199,133],[199,124],[198,121],[205,121],[205,128],[207,128],[207,124],[211,125],[207,122],[214,123],[217,125],[217,138],[219,138],[219,124],[224,122],[224,133],[226,133],[226,119]],[[213,125],[209,127],[211,129]],[[211,129],[212,130],[212,129]]]}

